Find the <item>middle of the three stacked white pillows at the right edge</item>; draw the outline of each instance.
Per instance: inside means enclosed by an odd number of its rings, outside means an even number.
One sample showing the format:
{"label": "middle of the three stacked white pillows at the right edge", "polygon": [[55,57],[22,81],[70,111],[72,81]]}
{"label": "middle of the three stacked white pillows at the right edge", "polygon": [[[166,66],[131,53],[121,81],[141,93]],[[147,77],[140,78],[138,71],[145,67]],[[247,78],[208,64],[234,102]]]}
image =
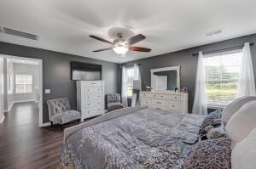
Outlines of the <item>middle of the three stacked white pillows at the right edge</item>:
{"label": "middle of the three stacked white pillows at the right edge", "polygon": [[232,141],[232,148],[246,138],[254,128],[256,128],[256,101],[251,101],[232,115],[225,127],[226,135]]}

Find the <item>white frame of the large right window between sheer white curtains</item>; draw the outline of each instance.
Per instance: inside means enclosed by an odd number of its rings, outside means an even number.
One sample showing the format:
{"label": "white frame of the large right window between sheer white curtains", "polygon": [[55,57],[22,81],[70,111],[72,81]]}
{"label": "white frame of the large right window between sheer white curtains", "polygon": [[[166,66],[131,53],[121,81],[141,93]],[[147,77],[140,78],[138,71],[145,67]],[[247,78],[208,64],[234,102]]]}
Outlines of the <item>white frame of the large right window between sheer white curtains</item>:
{"label": "white frame of the large right window between sheer white curtains", "polygon": [[[239,79],[237,79],[237,80],[236,79],[223,79],[223,80],[207,81],[207,72],[206,72],[206,65],[205,65],[205,60],[204,59],[217,57],[217,56],[221,56],[221,55],[225,55],[225,54],[241,54],[241,53],[242,53],[241,49],[236,49],[236,50],[230,50],[230,51],[224,51],[224,52],[204,55],[203,56],[203,63],[204,63],[204,70],[205,70],[205,84],[206,84],[206,87],[207,87],[207,82],[238,82]],[[239,66],[241,66],[241,65],[239,65]],[[240,67],[239,67],[239,69],[240,69]],[[236,92],[237,92],[237,87],[236,87]],[[207,95],[207,91],[206,91],[206,95]],[[209,109],[223,110],[225,106],[226,106],[226,104],[210,104],[210,103],[208,103],[208,100],[207,100],[207,107]]]}

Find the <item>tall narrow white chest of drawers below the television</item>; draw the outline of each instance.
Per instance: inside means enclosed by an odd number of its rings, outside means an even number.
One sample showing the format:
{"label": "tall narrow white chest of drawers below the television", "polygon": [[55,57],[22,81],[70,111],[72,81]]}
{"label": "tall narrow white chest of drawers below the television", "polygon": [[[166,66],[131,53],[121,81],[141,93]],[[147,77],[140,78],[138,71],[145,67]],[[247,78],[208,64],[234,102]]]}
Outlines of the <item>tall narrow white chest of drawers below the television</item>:
{"label": "tall narrow white chest of drawers below the television", "polygon": [[104,103],[103,81],[77,82],[77,108],[81,112],[81,121],[92,116],[103,115]]}

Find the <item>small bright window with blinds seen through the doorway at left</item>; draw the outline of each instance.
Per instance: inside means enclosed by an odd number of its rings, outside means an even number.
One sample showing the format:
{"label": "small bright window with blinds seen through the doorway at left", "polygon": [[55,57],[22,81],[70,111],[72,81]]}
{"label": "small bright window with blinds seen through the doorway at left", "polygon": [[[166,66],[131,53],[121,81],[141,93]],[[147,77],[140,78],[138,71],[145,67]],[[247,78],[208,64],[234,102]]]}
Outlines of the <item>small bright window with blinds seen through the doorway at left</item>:
{"label": "small bright window with blinds seen through the doorway at left", "polygon": [[32,93],[32,75],[15,76],[16,93]]}

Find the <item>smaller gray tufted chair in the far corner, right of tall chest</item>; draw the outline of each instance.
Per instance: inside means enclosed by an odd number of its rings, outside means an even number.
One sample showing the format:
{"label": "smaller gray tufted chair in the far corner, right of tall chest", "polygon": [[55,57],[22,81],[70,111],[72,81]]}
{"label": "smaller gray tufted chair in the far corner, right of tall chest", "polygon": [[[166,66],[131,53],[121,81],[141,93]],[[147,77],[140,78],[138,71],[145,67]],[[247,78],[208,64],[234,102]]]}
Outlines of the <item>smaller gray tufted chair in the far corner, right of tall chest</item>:
{"label": "smaller gray tufted chair in the far corner, right of tall chest", "polygon": [[124,107],[124,104],[121,104],[121,96],[119,93],[108,94],[108,111],[118,110]]}

